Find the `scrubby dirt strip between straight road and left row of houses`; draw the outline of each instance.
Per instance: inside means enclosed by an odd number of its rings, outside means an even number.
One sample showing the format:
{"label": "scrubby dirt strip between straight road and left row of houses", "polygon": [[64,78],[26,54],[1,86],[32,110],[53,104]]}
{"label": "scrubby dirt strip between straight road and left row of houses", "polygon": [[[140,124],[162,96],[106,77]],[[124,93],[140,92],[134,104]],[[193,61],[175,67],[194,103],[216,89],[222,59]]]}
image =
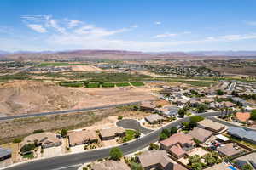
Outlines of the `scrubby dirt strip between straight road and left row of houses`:
{"label": "scrubby dirt strip between straight road and left row of houses", "polygon": [[31,134],[36,129],[55,131],[61,128],[78,129],[88,128],[91,130],[114,126],[117,116],[141,119],[148,113],[141,111],[130,111],[124,107],[97,110],[94,112],[70,113],[57,116],[39,116],[32,118],[21,118],[12,121],[0,122],[0,144],[13,141]]}

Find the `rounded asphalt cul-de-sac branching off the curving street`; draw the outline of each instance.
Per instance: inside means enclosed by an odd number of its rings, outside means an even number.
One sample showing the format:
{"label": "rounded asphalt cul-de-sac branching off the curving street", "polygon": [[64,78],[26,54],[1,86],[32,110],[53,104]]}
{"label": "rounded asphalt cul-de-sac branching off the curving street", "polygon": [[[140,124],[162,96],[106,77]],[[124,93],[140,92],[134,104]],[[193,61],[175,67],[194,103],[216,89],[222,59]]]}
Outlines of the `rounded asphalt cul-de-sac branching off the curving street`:
{"label": "rounded asphalt cul-de-sac branching off the curving street", "polygon": [[153,130],[150,130],[148,128],[142,127],[140,125],[140,122],[138,122],[137,120],[134,120],[134,119],[120,120],[116,124],[119,127],[131,128],[131,129],[137,130],[137,131],[139,131],[140,133],[143,133],[143,134],[148,134],[148,133],[153,132]]}

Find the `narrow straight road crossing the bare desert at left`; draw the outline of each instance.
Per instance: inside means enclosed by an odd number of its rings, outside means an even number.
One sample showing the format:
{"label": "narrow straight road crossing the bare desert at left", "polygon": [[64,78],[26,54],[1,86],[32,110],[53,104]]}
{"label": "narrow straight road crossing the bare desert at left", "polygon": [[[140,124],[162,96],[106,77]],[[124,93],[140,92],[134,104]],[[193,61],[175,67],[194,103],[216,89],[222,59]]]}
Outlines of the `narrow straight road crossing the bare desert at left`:
{"label": "narrow straight road crossing the bare desert at left", "polygon": [[66,111],[49,111],[49,112],[43,112],[43,113],[23,114],[18,116],[3,116],[3,117],[0,117],[0,121],[6,121],[6,120],[11,120],[16,118],[34,117],[34,116],[49,116],[49,115],[56,115],[56,114],[75,113],[79,111],[94,111],[94,110],[108,109],[108,108],[119,107],[124,105],[136,105],[139,103],[140,102],[130,102],[130,103],[119,104],[119,105],[105,105],[105,106],[99,106],[99,107],[88,107],[83,109],[74,109],[74,110],[66,110]]}

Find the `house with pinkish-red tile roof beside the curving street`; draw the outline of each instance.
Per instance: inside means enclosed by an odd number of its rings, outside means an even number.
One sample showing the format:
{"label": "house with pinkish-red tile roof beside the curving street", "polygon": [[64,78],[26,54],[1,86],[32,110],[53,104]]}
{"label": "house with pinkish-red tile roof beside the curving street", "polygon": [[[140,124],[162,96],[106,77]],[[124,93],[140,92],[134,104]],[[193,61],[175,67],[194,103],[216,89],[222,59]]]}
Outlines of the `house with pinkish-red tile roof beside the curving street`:
{"label": "house with pinkish-red tile roof beside the curving street", "polygon": [[189,134],[176,133],[168,139],[160,141],[160,148],[169,152],[172,156],[181,158],[186,152],[195,147],[193,137]]}

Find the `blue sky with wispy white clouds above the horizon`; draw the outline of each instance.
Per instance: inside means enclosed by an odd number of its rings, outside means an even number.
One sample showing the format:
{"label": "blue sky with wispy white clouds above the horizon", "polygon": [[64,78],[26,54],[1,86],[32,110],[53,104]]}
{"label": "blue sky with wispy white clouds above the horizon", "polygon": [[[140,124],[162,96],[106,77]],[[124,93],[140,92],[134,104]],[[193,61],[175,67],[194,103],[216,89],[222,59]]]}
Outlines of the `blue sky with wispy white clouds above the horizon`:
{"label": "blue sky with wispy white clouds above the horizon", "polygon": [[255,0],[1,0],[0,50],[256,50]]}

